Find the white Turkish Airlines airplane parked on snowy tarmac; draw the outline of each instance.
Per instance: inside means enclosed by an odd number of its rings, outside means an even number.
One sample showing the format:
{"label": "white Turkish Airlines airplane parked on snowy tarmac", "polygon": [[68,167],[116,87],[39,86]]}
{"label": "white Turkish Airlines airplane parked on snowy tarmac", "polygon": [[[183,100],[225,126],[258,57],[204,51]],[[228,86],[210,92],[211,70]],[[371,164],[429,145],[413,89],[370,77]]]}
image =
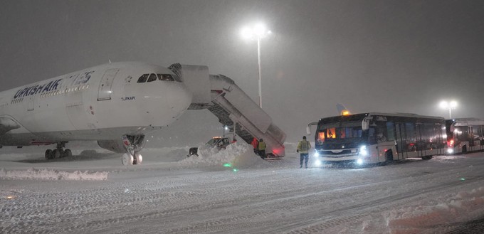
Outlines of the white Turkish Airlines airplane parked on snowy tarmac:
{"label": "white Turkish Airlines airplane parked on snowy tarmac", "polygon": [[70,141],[98,141],[141,164],[144,135],[176,121],[192,93],[172,70],[141,62],[98,65],[0,92],[1,146],[56,144],[46,159],[72,156]]}

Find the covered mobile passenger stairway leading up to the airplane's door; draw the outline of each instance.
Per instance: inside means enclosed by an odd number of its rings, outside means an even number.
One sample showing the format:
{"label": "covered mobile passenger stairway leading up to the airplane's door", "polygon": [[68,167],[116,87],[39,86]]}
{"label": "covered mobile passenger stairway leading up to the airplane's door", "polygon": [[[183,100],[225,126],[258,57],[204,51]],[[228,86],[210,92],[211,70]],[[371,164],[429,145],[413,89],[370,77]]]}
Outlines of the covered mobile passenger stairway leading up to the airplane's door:
{"label": "covered mobile passenger stairway leading up to the airplane's door", "polygon": [[251,144],[253,137],[266,144],[265,159],[285,156],[285,133],[251,97],[224,75],[210,75],[209,68],[200,65],[175,63],[169,69],[179,76],[193,93],[189,110],[208,109],[219,122],[230,128],[239,138]]}

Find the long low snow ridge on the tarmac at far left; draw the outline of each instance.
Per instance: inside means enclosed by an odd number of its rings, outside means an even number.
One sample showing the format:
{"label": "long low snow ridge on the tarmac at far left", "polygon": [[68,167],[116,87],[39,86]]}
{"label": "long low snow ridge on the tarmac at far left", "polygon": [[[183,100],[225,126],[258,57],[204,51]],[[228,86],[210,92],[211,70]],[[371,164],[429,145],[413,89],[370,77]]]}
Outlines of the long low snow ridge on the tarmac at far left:
{"label": "long low snow ridge on the tarmac at far left", "polygon": [[0,170],[0,179],[36,179],[36,180],[90,180],[105,181],[107,172],[55,171],[48,169],[28,169],[26,171]]}

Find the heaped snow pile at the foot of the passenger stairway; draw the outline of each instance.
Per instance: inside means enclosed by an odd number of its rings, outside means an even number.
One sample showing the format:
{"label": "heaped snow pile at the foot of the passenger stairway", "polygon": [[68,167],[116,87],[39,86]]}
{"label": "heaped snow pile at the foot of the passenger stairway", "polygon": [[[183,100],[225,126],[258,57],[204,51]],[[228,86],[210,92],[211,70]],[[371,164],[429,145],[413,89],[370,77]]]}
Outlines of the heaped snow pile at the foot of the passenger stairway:
{"label": "heaped snow pile at the foot of the passenger stairway", "polygon": [[179,161],[181,166],[222,166],[231,164],[233,167],[258,166],[267,163],[254,154],[253,147],[246,143],[229,144],[226,149],[216,147],[199,147],[199,156],[190,156]]}

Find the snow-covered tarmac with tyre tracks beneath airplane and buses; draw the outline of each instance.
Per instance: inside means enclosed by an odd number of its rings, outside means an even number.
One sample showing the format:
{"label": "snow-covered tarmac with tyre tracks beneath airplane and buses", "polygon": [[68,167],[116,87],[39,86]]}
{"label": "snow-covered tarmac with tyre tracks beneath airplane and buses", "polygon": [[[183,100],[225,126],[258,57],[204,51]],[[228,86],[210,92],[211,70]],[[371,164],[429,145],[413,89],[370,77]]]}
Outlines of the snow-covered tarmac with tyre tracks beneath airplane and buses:
{"label": "snow-covered tarmac with tyre tracks beneath airplane and buses", "polygon": [[85,148],[0,149],[0,233],[449,233],[484,217],[482,152],[299,169],[293,144],[281,161],[144,149],[137,166]]}

